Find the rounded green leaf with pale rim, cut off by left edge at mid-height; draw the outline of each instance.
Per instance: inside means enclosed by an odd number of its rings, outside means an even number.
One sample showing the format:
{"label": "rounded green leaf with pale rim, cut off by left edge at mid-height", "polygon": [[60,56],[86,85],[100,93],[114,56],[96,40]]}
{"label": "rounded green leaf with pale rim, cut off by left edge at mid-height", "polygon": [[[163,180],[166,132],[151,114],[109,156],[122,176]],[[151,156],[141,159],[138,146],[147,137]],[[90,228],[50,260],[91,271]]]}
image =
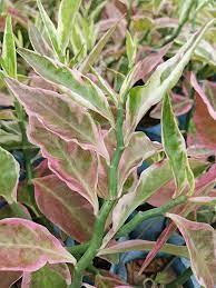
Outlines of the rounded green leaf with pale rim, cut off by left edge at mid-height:
{"label": "rounded green leaf with pale rim, cut off by left edge at mid-height", "polygon": [[17,201],[19,163],[13,156],[0,147],[0,195],[9,203]]}

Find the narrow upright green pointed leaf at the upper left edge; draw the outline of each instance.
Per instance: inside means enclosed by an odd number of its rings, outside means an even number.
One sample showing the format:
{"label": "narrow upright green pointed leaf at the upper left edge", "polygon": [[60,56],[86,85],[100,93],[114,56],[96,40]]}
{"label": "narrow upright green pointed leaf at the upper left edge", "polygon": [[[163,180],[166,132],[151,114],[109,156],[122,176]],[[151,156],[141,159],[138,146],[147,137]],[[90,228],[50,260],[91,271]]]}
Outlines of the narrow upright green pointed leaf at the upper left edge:
{"label": "narrow upright green pointed leaf at the upper left edge", "polygon": [[8,76],[13,78],[17,77],[16,44],[14,44],[14,37],[12,32],[11,17],[9,16],[7,17],[7,20],[6,20],[1,66]]}

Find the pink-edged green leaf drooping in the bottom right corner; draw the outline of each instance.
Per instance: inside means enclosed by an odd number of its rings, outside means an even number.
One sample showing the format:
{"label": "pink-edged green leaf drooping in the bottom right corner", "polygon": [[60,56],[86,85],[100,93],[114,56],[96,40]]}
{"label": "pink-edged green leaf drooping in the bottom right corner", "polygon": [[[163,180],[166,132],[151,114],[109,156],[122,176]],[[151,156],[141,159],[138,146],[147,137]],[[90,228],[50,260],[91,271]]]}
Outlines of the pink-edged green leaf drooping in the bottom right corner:
{"label": "pink-edged green leaf drooping in the bottom right corner", "polygon": [[216,234],[207,224],[189,221],[178,215],[167,213],[180,230],[189,250],[192,269],[198,282],[208,288],[216,284]]}

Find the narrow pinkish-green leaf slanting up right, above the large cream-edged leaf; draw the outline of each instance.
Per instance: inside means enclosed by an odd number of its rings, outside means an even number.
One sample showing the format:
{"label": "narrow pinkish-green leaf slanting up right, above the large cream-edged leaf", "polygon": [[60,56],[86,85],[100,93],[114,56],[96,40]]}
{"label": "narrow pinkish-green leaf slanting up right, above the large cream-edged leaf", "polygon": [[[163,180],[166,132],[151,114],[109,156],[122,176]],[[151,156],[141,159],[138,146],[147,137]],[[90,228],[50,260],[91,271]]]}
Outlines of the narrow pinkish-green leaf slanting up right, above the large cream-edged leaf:
{"label": "narrow pinkish-green leaf slanting up right, above the large cream-edged leaf", "polygon": [[98,60],[98,57],[100,56],[104,47],[109,41],[110,37],[112,36],[114,31],[116,30],[119,21],[117,21],[98,41],[98,43],[94,47],[92,51],[89,53],[89,56],[86,58],[84,63],[80,67],[80,71],[82,73],[88,73],[90,70],[90,67]]}

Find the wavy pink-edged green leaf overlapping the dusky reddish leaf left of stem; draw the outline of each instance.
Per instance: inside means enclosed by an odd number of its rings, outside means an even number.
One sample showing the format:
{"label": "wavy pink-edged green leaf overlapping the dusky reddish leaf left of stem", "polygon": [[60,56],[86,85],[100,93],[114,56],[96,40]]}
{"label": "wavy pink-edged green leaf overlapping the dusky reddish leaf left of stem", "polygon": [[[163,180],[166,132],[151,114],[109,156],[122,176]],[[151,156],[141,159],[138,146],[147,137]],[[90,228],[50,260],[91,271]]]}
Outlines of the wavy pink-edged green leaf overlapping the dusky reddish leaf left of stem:
{"label": "wavy pink-edged green leaf overlapping the dusky reddish leaf left of stem", "polygon": [[49,168],[71,190],[82,195],[98,211],[97,158],[95,153],[82,150],[75,142],[65,141],[50,132],[35,117],[30,118],[29,139],[41,148],[42,156],[48,159]]}

